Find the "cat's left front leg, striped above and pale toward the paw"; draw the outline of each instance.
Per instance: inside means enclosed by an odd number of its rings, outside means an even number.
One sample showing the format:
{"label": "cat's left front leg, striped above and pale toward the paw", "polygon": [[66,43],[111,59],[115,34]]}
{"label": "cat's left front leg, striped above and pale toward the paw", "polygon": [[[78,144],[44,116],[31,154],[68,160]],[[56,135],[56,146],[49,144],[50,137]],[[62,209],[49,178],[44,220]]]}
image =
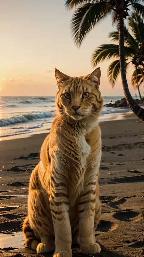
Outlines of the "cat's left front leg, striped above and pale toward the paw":
{"label": "cat's left front leg, striped above and pale toward the paw", "polygon": [[65,183],[61,179],[57,180],[56,177],[52,177],[53,188],[51,188],[50,193],[50,208],[55,234],[54,257],[71,257],[72,238],[69,220],[68,190]]}

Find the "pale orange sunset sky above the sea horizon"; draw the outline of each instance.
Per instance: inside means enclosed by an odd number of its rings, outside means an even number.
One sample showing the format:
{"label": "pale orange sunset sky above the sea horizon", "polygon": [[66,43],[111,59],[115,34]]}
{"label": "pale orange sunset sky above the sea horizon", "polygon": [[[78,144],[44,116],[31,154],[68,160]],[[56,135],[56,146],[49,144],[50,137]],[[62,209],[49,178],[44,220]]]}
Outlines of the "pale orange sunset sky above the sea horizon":
{"label": "pale orange sunset sky above the sea horizon", "polygon": [[[91,53],[101,44],[110,43],[114,30],[111,18],[95,26],[77,49],[70,34],[70,18],[63,0],[1,0],[0,8],[0,96],[54,96],[57,91],[54,68],[70,76],[91,73]],[[121,78],[111,88],[107,68],[100,64],[103,96],[122,96]],[[129,68],[127,80],[132,95]],[[143,95],[143,89],[141,88]]]}

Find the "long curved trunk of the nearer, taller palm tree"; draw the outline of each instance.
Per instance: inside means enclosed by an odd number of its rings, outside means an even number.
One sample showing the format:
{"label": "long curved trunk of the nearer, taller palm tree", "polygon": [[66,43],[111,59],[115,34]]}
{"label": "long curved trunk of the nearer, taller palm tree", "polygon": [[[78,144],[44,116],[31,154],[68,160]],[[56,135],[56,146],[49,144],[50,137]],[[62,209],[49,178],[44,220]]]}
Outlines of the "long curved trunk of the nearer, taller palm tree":
{"label": "long curved trunk of the nearer, taller palm tree", "polygon": [[118,40],[119,40],[119,59],[122,78],[122,86],[125,93],[125,99],[129,107],[141,120],[144,121],[144,109],[135,103],[130,92],[126,80],[125,72],[125,52],[124,52],[124,21],[122,11],[118,14]]}

